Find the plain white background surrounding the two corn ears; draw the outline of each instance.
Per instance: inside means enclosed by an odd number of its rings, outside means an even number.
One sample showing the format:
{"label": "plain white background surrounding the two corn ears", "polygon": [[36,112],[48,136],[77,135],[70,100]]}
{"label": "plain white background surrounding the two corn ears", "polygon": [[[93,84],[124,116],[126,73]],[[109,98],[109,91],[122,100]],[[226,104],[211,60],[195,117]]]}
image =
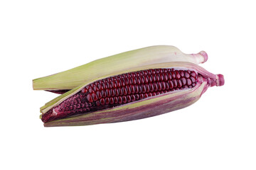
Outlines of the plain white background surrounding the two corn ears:
{"label": "plain white background surrounding the two corn ears", "polygon": [[[1,1],[0,169],[256,169],[253,1]],[[225,76],[193,106],[43,128],[32,79],[151,45],[205,50]]]}

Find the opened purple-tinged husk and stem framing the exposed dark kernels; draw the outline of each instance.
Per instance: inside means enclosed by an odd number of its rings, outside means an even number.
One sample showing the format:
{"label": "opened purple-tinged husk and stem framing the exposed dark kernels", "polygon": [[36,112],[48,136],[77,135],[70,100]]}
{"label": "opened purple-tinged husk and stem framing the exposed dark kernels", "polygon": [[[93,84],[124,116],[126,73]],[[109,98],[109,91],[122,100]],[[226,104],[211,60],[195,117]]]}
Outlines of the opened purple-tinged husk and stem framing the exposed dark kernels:
{"label": "opened purple-tinged husk and stem framing the exposed dark kernels", "polygon": [[[137,72],[144,69],[188,69],[197,72],[202,75],[202,79],[192,89],[184,89],[178,91],[171,91],[165,94],[159,94],[144,98],[140,101],[123,104],[113,108],[107,108],[100,111],[92,111],[82,115],[76,115],[70,118],[62,118],[60,120],[53,120],[48,123],[44,123],[46,127],[51,126],[70,126],[70,125],[94,125],[99,123],[116,123],[128,120],[137,120],[141,118],[148,118],[154,115],[160,115],[175,111],[177,109],[185,108],[198,101],[201,95],[208,89],[209,86],[222,86],[224,84],[223,76],[218,74],[212,74],[203,67],[199,67],[197,64],[191,62],[164,62],[158,64],[144,65],[139,68],[127,69],[121,71],[118,74],[127,72]],[[58,106],[60,103],[77,94],[88,84],[92,84],[95,81],[105,79],[106,77],[114,76],[115,74],[107,74],[105,76],[95,78],[92,81],[85,81],[75,89],[68,91],[67,93],[60,95],[58,98],[53,99],[41,108],[41,117],[46,114],[54,106]]]}

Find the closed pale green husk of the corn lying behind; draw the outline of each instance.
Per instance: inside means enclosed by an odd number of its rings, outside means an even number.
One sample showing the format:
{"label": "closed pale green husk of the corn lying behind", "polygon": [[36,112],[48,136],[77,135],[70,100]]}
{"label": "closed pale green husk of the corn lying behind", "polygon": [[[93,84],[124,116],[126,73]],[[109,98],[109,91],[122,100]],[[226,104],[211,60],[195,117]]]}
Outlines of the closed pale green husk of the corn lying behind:
{"label": "closed pale green husk of the corn lying behind", "polygon": [[122,52],[100,60],[69,69],[65,72],[41,77],[33,80],[34,90],[74,89],[87,81],[110,74],[119,74],[129,69],[143,67],[161,62],[191,62],[199,64],[206,62],[205,52],[187,55],[171,45],[157,45],[138,50]]}

